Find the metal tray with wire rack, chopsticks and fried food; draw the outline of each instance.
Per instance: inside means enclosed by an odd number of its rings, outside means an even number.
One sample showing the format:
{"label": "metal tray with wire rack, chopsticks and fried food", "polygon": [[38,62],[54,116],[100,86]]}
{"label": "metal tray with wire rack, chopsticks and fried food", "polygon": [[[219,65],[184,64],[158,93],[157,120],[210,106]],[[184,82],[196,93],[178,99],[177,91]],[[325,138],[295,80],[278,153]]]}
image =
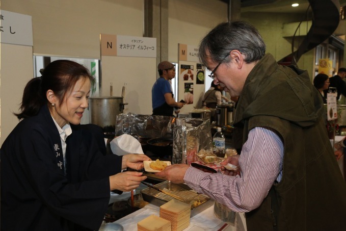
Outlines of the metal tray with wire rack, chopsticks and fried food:
{"label": "metal tray with wire rack, chopsticks and fried food", "polygon": [[[165,193],[159,192],[153,188],[142,189],[141,193],[143,196],[143,200],[158,207],[162,206],[172,199],[180,200],[182,202],[191,204],[190,217],[199,214],[200,212],[204,211],[205,209],[212,206],[212,204],[214,204],[214,200],[207,197],[206,195],[197,194],[196,192],[193,192],[180,185],[173,184],[169,181],[159,183],[157,185],[154,185],[154,187],[163,190]],[[198,200],[202,203],[199,206],[194,207],[194,202]]]}

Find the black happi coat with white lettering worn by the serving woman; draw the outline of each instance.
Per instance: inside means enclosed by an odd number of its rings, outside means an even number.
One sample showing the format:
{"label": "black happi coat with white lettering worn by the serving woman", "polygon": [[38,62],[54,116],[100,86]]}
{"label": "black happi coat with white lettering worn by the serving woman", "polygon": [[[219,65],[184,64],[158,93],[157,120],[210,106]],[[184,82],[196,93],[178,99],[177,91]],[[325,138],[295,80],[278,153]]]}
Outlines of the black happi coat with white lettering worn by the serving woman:
{"label": "black happi coat with white lettering worn by the serving woman", "polygon": [[1,230],[99,228],[110,199],[109,175],[121,171],[121,158],[102,155],[95,130],[71,127],[66,173],[60,135],[46,106],[19,122],[5,140]]}

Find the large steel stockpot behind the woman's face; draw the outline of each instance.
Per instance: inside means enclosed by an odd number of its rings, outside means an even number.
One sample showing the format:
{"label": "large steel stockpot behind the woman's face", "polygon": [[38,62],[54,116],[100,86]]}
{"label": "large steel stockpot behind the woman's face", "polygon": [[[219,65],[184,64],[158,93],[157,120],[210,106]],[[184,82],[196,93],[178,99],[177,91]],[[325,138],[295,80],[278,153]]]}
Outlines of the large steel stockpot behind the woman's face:
{"label": "large steel stockpot behind the woman's face", "polygon": [[[115,133],[117,115],[123,113],[123,97],[89,98],[89,121],[103,128],[105,135]],[[113,136],[114,137],[114,136]]]}

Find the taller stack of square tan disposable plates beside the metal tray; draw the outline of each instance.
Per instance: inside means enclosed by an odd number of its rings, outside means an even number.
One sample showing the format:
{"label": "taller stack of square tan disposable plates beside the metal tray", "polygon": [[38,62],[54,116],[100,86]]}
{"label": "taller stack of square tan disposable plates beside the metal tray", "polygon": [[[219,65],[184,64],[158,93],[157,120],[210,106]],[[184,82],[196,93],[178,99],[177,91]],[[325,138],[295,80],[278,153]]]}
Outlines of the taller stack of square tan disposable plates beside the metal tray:
{"label": "taller stack of square tan disposable plates beside the metal tray", "polygon": [[180,231],[190,224],[191,205],[172,199],[160,206],[160,217],[171,221],[172,231]]}

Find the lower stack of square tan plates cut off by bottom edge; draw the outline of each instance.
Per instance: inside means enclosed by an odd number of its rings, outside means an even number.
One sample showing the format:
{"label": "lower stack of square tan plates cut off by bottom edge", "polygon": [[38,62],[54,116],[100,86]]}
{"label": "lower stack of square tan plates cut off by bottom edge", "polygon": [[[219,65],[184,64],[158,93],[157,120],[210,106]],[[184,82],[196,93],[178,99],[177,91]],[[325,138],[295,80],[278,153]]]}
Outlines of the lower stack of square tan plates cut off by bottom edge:
{"label": "lower stack of square tan plates cut off by bottom edge", "polygon": [[150,215],[137,223],[138,231],[171,231],[171,222],[164,218]]}

